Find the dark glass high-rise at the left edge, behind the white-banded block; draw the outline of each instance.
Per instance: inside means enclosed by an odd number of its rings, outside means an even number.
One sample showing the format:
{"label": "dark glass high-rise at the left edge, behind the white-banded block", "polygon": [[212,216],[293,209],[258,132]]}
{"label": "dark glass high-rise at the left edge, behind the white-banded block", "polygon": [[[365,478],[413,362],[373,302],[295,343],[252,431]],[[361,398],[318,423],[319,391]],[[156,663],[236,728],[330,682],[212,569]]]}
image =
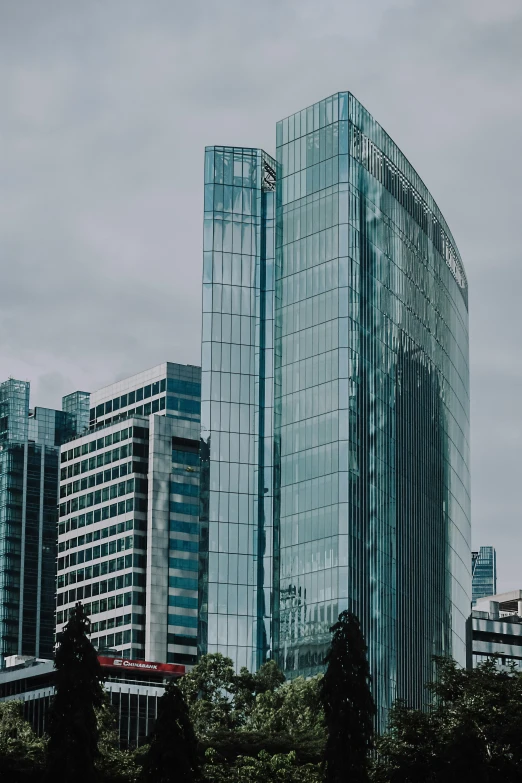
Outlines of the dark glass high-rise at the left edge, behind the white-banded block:
{"label": "dark glass high-rise at the left edge, behind the white-banded block", "polygon": [[29,408],[30,384],[0,384],[0,667],[5,657],[50,657],[60,444],[75,419]]}

